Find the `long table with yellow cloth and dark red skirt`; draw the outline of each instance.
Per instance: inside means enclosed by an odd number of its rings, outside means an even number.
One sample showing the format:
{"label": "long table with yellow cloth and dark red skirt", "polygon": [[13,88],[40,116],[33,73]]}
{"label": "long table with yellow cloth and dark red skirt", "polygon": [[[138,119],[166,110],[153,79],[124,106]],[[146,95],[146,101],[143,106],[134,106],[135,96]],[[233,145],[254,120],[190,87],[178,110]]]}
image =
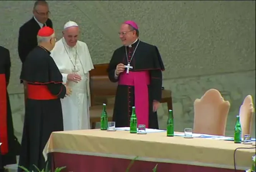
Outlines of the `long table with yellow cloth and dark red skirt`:
{"label": "long table with yellow cloth and dark red skirt", "polygon": [[[125,172],[138,156],[130,172],[233,172],[233,153],[238,147],[232,141],[203,138],[166,137],[165,132],[146,135],[128,131],[77,130],[53,132],[44,149],[51,153],[55,167],[63,172]],[[251,166],[254,149],[236,152],[237,172]]]}

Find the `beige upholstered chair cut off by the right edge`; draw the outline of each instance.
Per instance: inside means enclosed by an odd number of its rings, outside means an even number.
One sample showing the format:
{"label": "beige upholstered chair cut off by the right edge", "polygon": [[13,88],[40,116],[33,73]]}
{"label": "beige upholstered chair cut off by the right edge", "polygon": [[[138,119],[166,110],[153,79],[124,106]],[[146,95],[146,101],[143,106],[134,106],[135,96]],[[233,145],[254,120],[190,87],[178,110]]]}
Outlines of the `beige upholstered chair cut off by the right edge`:
{"label": "beige upholstered chair cut off by the right edge", "polygon": [[243,104],[240,106],[239,115],[242,127],[242,138],[244,135],[251,135],[251,126],[253,125],[253,97],[248,95],[245,97]]}

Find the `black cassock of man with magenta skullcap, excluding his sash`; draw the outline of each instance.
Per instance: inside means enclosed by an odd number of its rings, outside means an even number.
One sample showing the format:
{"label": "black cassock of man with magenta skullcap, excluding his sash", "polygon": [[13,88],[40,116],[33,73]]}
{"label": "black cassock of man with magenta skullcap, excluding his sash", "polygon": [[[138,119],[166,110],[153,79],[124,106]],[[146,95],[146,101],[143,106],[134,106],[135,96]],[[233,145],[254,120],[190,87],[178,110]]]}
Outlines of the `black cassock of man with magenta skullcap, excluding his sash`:
{"label": "black cassock of man with magenta skullcap, excluding his sash", "polygon": [[[138,47],[136,49],[137,44]],[[127,50],[128,60],[131,60],[130,66],[133,67],[130,69],[130,73],[141,71],[147,71],[149,73],[148,128],[158,129],[158,116],[157,112],[153,112],[153,101],[161,101],[162,71],[164,71],[164,65],[158,48],[139,40],[132,44],[131,47],[122,46],[115,50],[109,63],[108,77],[110,81],[119,82],[115,98],[113,121],[116,122],[116,127],[128,127],[130,125],[132,107],[136,104],[135,86],[120,84],[119,79],[122,74],[120,74],[118,78],[115,78],[115,69],[117,65],[119,63],[128,65],[125,48]],[[134,51],[134,56],[131,58]],[[126,70],[123,73],[126,73]],[[136,109],[137,108],[138,107],[136,107]]]}

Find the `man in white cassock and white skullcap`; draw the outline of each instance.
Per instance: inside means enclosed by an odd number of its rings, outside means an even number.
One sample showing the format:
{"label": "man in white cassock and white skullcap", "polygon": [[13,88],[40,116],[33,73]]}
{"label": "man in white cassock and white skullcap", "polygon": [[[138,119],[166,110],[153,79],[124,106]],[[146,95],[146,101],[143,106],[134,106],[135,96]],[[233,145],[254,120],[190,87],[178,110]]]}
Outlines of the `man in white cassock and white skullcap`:
{"label": "man in white cassock and white skullcap", "polygon": [[74,21],[64,25],[63,37],[56,42],[51,56],[61,71],[63,82],[72,94],[61,100],[64,130],[90,129],[89,71],[94,69],[90,52],[78,41],[79,26]]}

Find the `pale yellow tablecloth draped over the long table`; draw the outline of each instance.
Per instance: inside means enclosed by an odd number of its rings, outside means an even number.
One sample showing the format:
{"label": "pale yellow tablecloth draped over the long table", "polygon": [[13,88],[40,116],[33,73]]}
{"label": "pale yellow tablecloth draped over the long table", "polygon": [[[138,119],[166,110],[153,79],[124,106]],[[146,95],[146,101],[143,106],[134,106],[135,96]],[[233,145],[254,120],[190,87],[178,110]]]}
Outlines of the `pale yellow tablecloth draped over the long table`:
{"label": "pale yellow tablecloth draped over the long table", "polygon": [[[239,147],[232,141],[203,138],[187,139],[181,136],[167,137],[165,132],[146,135],[129,131],[76,130],[53,132],[44,149],[44,156],[52,152],[116,157],[153,162],[168,162],[234,169],[233,154]],[[236,151],[236,168],[251,167],[255,149]]]}

